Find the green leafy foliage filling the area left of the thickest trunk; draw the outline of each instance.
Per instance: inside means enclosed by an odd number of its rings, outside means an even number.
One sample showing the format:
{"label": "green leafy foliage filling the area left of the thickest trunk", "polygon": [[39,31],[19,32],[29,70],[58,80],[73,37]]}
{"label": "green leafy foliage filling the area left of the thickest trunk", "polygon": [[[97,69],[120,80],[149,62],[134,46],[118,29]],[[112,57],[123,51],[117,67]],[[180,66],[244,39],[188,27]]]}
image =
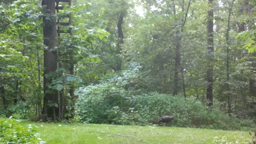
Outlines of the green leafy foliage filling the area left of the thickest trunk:
{"label": "green leafy foliage filling the area left of the thickest trunk", "polygon": [[25,103],[19,101],[26,101],[33,111],[40,111],[44,47],[42,20],[38,19],[42,15],[40,7],[39,1],[25,0],[8,1],[0,7],[0,19],[3,21],[0,34],[0,86],[3,88],[0,104],[5,100],[7,116],[26,117]]}

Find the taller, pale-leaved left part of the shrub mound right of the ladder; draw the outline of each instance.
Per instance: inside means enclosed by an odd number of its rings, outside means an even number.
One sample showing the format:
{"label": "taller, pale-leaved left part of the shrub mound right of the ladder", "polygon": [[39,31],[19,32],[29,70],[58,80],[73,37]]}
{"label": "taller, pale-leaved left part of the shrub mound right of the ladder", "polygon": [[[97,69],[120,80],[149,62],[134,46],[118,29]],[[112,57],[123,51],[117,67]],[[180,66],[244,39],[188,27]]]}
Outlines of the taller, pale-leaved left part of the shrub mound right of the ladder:
{"label": "taller, pale-leaved left part of the shrub mound right of the ladder", "polygon": [[79,88],[76,104],[79,120],[87,123],[131,124],[127,122],[129,117],[123,110],[133,113],[126,103],[129,95],[141,91],[139,68],[133,63],[128,70],[107,76],[98,85]]}

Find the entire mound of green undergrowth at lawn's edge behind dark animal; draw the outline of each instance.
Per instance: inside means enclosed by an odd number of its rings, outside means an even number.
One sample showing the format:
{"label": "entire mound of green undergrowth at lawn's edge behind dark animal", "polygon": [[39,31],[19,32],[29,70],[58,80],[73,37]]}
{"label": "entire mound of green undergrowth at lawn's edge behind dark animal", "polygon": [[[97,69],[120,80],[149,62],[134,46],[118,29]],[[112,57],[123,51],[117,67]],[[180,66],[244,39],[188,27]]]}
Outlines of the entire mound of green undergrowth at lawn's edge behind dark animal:
{"label": "entire mound of green undergrowth at lawn's edge behind dark animal", "polygon": [[[123,71],[122,75],[114,74],[98,85],[79,89],[76,106],[81,122],[149,125],[156,123],[161,116],[176,113],[176,118],[168,125],[212,129],[243,129],[254,125],[252,121],[229,117],[217,109],[208,110],[194,98],[156,92],[132,93],[138,85],[132,83],[138,79],[138,72],[128,71]],[[133,85],[129,86],[131,83]]]}

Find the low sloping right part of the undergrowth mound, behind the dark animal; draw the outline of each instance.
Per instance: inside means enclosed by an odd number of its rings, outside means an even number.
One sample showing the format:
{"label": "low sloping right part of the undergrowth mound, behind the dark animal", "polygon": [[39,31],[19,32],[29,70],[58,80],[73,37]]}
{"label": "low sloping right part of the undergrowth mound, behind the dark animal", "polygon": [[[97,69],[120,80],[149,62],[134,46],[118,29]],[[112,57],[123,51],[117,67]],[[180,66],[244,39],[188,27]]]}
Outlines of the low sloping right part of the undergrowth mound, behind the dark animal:
{"label": "low sloping right part of the undergrowth mound, behind the dark animal", "polygon": [[[153,122],[156,122],[156,118],[159,116],[176,113],[176,118],[174,118],[171,125],[178,127],[212,129],[243,129],[245,127],[245,124],[242,124],[245,122],[243,119],[229,117],[217,109],[207,110],[207,107],[200,101],[191,98],[184,99],[168,94],[151,93],[135,97],[133,103],[135,103],[133,105],[139,105],[143,109],[146,108],[148,116],[154,118],[151,120]],[[251,128],[255,125],[253,121],[248,123]]]}

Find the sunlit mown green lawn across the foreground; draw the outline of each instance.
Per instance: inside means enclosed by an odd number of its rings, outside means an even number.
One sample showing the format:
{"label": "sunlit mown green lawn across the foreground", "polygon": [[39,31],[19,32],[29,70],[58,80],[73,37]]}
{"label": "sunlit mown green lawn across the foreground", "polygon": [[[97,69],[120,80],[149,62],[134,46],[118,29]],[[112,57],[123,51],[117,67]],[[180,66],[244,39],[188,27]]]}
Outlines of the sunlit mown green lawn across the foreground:
{"label": "sunlit mown green lawn across the foreground", "polygon": [[[28,125],[32,122],[22,122]],[[248,131],[108,124],[32,123],[46,143],[245,143]]]}

